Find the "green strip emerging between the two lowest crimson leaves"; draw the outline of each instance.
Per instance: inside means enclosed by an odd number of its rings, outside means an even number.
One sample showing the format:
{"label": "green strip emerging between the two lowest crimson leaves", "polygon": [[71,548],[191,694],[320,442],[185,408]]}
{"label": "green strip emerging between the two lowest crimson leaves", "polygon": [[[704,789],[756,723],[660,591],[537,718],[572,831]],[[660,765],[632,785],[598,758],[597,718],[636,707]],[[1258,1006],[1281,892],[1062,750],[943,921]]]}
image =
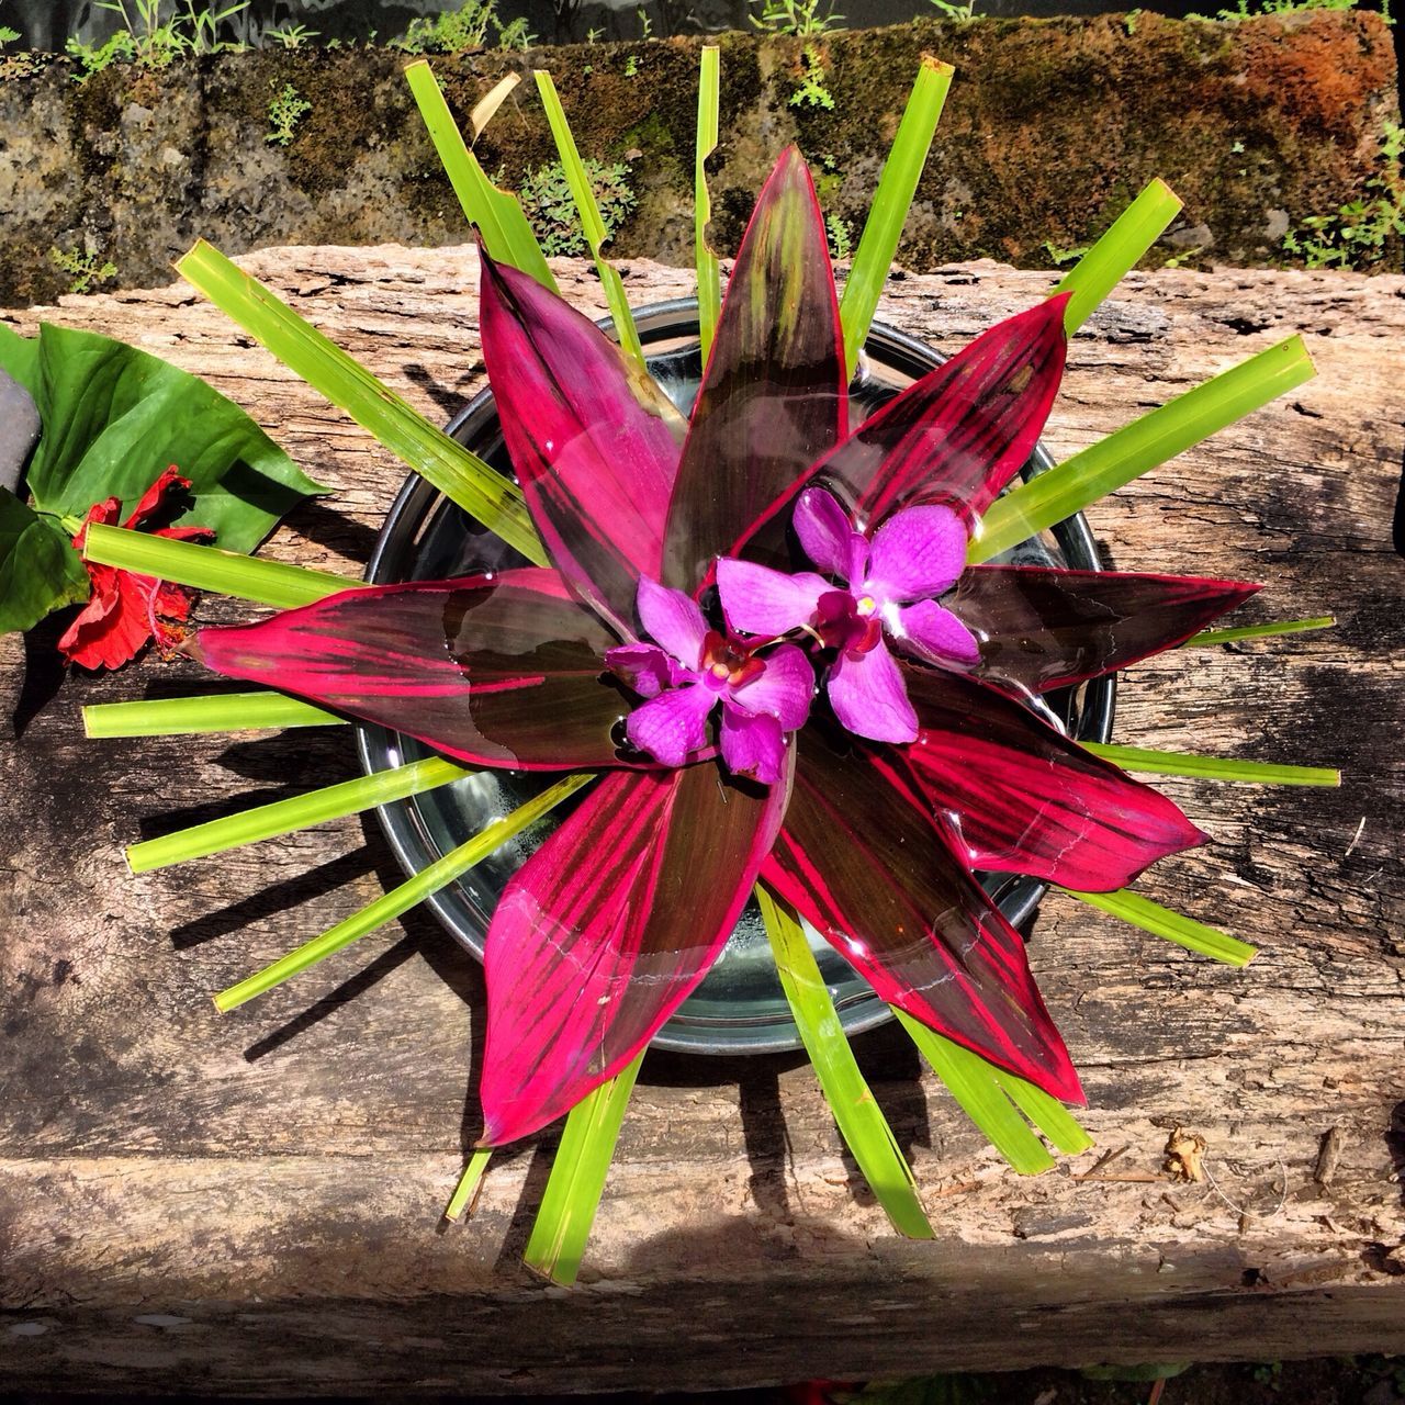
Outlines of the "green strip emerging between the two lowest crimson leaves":
{"label": "green strip emerging between the two lowest crimson leaves", "polygon": [[932,1239],[932,1224],[917,1197],[912,1168],[858,1071],[799,920],[764,888],[757,887],[756,898],[771,939],[781,988],[844,1144],[894,1229],[909,1239]]}

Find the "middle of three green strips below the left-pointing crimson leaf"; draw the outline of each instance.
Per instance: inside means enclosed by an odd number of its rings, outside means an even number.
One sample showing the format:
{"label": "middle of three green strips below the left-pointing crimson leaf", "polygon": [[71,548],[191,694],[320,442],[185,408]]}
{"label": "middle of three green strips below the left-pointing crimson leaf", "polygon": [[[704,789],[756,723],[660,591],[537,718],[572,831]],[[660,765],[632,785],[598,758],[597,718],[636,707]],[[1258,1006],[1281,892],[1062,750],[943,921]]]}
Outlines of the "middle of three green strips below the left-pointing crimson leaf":
{"label": "middle of three green strips below the left-pointing crimson leaf", "polygon": [[374,776],[358,776],[339,785],[323,785],[305,795],[292,795],[268,805],[256,805],[239,815],[226,815],[204,825],[192,825],[160,839],[148,839],[126,850],[126,861],[133,874],[150,873],[153,868],[169,868],[191,858],[205,858],[229,849],[256,844],[264,839],[277,839],[299,829],[311,829],[332,819],[358,815],[375,805],[389,805],[392,801],[422,795],[437,785],[447,785],[471,774],[462,766],[431,756],[423,762],[410,762]]}

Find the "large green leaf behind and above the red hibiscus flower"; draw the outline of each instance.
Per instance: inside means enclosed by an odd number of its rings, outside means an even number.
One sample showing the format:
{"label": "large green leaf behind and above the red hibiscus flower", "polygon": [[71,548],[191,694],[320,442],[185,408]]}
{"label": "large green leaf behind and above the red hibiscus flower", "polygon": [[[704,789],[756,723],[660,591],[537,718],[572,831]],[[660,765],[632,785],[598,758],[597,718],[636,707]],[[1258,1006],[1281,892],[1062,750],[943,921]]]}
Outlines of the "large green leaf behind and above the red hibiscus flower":
{"label": "large green leaf behind and above the red hibiscus flower", "polygon": [[174,464],[194,496],[181,520],[249,552],[303,496],[326,492],[237,405],[111,337],[45,323],[35,346],[0,326],[0,367],[44,424],[27,475],[39,511],[83,517],[117,497],[125,516]]}

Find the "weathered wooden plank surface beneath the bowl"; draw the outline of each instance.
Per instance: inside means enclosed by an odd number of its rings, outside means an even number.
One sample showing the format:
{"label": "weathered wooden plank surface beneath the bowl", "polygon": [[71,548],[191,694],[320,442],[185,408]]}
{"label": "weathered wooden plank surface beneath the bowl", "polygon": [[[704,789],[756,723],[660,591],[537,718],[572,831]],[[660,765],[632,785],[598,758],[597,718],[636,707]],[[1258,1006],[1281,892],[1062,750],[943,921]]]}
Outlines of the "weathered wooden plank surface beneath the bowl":
{"label": "weathered wooden plank surface beneath the bowl", "polygon": [[[243,260],[434,420],[482,384],[468,250]],[[583,266],[559,266],[600,309]],[[632,301],[687,274],[628,270]],[[951,350],[1040,274],[898,277],[881,316]],[[400,469],[185,285],[6,313],[121,336],[244,405],[333,497],[266,548],[355,572]],[[1097,1149],[1013,1175],[894,1030],[861,1061],[937,1227],[896,1238],[795,1057],[653,1054],[582,1284],[518,1259],[552,1137],[440,1208],[476,1131],[482,984],[423,913],[221,1017],[209,992],[399,877],[347,821],[133,878],[122,847],[354,773],[339,729],[87,742],[79,708],[188,686],[0,648],[0,1388],[249,1395],[726,1387],[951,1367],[1405,1350],[1405,280],[1132,275],[1076,337],[1064,457],[1293,332],[1316,381],[1097,504],[1107,561],[1262,580],[1297,639],[1124,679],[1117,740],[1336,763],[1335,791],[1166,780],[1213,843],[1151,896],[1262,946],[1227,969],[1050,898],[1035,971]],[[228,601],[201,604],[230,620]],[[1170,1131],[1210,1179],[1163,1169]]]}

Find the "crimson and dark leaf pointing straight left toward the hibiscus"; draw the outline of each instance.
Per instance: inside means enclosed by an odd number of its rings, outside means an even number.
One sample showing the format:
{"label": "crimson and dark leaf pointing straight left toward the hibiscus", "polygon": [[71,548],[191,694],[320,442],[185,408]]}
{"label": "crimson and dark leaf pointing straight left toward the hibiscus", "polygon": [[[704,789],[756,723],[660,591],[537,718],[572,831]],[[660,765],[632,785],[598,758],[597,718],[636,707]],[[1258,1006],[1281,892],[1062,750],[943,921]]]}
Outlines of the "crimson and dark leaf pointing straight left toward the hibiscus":
{"label": "crimson and dark leaf pointing straight left toward the hibiscus", "polygon": [[202,629],[216,673],[378,722],[475,764],[620,764],[628,711],[606,627],[552,570],[346,590],[260,624]]}

